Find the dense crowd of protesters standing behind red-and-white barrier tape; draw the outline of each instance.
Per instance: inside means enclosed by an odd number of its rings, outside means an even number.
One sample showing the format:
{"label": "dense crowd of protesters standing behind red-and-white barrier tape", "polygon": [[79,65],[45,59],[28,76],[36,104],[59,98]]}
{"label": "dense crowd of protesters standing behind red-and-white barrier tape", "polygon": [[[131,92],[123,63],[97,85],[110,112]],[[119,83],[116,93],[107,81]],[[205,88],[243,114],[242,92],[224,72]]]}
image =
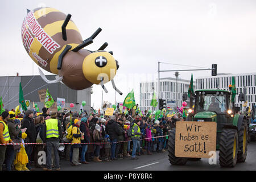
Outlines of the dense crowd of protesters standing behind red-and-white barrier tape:
{"label": "dense crowd of protesters standing behind red-and-white barrier tape", "polygon": [[[124,158],[136,160],[140,155],[166,152],[168,132],[176,121],[183,119],[180,113],[155,119],[154,115],[152,118],[138,113],[131,116],[131,112],[105,117],[96,113],[88,115],[86,111],[49,112],[46,107],[42,111],[15,114],[15,110],[10,110],[1,114],[0,171],[60,170],[60,160],[80,166]],[[46,164],[40,162],[40,151],[46,152]]]}

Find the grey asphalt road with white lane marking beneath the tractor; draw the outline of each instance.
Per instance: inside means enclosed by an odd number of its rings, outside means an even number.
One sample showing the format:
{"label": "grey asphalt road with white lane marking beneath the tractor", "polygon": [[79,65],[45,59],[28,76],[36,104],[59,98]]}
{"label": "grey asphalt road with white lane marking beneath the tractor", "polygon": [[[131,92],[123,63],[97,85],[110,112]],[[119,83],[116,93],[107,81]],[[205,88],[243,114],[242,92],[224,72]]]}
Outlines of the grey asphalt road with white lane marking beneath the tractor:
{"label": "grey asphalt road with white lane marking beneath the tractor", "polygon": [[[185,166],[172,166],[168,160],[168,152],[154,153],[153,155],[138,156],[138,160],[125,158],[112,162],[90,162],[73,167],[67,160],[61,160],[61,171],[256,171],[256,142],[248,144],[247,158],[245,163],[237,163],[233,168],[222,168],[218,162],[209,164],[209,159],[199,161],[188,161]],[[42,170],[37,168],[38,170]]]}

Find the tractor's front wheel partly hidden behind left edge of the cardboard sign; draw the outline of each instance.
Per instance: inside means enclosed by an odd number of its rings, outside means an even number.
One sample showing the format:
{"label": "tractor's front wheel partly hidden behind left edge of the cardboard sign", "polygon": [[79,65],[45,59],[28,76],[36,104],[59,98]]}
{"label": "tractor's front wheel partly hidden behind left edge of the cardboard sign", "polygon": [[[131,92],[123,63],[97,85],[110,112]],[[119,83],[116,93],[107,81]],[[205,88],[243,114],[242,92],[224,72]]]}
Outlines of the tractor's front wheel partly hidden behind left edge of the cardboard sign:
{"label": "tractor's front wheel partly hidden behind left edge of the cardboard sign", "polygon": [[169,137],[168,137],[168,156],[169,161],[172,165],[185,165],[188,161],[187,158],[177,158],[175,156],[175,132],[176,129],[171,129]]}

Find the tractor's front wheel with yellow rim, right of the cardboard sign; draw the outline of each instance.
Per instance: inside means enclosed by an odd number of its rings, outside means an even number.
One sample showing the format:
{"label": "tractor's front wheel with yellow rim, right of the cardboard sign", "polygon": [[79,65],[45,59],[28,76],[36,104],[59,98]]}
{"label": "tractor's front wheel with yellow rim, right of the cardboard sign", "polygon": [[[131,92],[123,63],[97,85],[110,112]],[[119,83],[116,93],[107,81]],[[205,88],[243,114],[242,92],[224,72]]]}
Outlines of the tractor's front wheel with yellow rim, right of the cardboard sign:
{"label": "tractor's front wheel with yellow rim, right of the cardboard sign", "polygon": [[238,135],[235,129],[223,129],[220,138],[221,167],[234,167],[237,163]]}

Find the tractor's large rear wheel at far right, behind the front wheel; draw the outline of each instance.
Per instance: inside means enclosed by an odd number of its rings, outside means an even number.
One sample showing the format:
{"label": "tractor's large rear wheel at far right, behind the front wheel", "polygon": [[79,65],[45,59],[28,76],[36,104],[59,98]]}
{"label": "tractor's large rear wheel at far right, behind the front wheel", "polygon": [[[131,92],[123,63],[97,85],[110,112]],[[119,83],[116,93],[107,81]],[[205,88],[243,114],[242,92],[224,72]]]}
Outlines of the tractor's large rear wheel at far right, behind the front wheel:
{"label": "tractor's large rear wheel at far right, behind the front wheel", "polygon": [[237,162],[245,162],[248,145],[248,129],[246,120],[243,119],[241,129],[238,131]]}

